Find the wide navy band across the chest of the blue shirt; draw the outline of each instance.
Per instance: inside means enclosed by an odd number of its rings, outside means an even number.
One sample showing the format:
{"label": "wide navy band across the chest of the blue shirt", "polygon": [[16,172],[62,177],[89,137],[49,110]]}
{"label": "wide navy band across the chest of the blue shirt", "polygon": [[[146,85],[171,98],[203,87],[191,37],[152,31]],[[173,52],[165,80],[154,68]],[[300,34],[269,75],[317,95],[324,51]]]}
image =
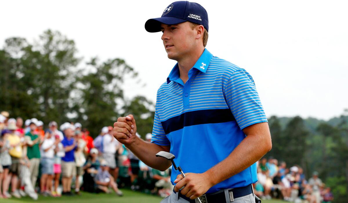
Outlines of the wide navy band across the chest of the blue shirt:
{"label": "wide navy band across the chest of the blue shirt", "polygon": [[165,134],[180,130],[186,126],[224,123],[235,120],[230,109],[205,109],[185,112],[179,116],[161,122]]}

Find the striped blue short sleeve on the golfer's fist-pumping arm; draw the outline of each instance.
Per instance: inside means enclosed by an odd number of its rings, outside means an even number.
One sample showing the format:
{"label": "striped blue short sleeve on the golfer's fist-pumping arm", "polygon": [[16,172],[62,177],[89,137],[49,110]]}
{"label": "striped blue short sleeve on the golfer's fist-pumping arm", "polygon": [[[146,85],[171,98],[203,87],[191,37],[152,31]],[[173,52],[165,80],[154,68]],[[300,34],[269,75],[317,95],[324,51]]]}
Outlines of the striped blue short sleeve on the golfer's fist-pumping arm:
{"label": "striped blue short sleeve on the golfer's fist-pumping arm", "polygon": [[157,108],[155,110],[155,119],[153,120],[151,142],[155,143],[156,145],[159,145],[159,146],[171,145],[166,134],[164,133],[161,121],[160,121],[158,114],[157,114]]}

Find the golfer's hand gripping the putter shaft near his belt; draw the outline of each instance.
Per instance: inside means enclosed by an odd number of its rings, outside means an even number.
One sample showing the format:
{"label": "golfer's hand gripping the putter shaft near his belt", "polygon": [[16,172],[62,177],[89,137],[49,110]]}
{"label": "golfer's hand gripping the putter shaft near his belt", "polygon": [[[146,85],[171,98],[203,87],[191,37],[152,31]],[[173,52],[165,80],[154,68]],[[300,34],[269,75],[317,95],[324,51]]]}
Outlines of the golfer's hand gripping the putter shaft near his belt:
{"label": "golfer's hand gripping the putter shaft near his belt", "polygon": [[181,174],[177,175],[174,183],[175,192],[179,192],[179,189],[184,187],[181,190],[181,194],[186,197],[194,200],[197,197],[200,197],[208,191],[209,188],[213,187],[209,181],[209,177],[205,173],[185,173],[185,178]]}

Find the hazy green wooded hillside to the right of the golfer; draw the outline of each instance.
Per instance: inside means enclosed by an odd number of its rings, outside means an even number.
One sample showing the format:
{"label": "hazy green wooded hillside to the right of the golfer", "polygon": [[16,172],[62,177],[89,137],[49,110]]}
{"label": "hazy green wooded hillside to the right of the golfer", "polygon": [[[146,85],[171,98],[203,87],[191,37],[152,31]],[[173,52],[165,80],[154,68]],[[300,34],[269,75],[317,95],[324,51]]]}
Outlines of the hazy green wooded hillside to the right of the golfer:
{"label": "hazy green wooded hillside to the right of the golfer", "polygon": [[[318,171],[319,177],[332,188],[334,202],[345,202],[348,198],[348,117],[342,115],[336,119],[325,122],[298,116],[270,117],[272,149],[266,156],[285,161],[288,167],[303,167],[307,178]],[[332,120],[336,125],[332,125]]]}

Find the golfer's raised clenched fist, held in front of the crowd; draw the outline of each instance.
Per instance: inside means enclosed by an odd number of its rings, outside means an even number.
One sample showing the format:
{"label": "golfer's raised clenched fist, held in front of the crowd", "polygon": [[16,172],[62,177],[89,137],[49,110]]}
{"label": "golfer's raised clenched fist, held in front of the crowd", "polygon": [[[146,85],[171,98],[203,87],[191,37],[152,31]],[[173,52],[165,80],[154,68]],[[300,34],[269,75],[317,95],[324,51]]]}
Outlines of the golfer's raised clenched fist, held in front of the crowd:
{"label": "golfer's raised clenched fist, held in front of the crowd", "polygon": [[137,139],[136,124],[133,115],[119,117],[113,124],[113,136],[122,144],[129,146]]}

